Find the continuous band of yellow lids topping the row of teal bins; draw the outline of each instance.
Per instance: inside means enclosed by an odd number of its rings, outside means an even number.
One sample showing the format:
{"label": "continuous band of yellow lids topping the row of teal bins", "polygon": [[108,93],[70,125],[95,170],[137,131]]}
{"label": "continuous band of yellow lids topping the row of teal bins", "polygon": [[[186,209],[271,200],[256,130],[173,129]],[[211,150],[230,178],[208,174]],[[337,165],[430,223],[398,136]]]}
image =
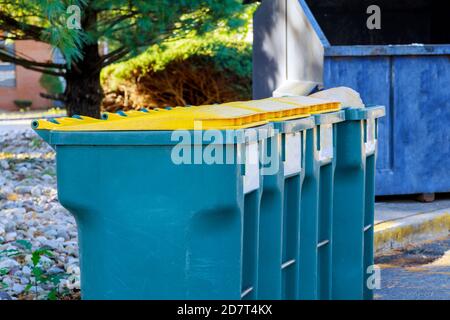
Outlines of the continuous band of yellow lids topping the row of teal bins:
{"label": "continuous band of yellow lids topping the row of teal bins", "polygon": [[36,130],[57,131],[152,131],[240,129],[307,117],[313,113],[340,109],[339,102],[311,97],[283,97],[238,101],[221,105],[175,107],[104,113],[106,120],[89,117],[57,118],[33,122]]}

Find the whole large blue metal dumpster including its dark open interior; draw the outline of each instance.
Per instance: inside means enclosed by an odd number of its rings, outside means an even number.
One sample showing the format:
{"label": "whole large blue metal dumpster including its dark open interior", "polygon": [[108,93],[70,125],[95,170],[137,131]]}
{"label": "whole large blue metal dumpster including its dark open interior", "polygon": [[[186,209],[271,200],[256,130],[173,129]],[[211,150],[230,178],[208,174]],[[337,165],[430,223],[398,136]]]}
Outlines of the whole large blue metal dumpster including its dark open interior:
{"label": "whole large blue metal dumpster including its dark open interior", "polygon": [[[386,106],[375,193],[449,192],[450,32],[448,9],[439,7],[444,1],[376,1],[381,29],[373,30],[366,26],[370,1],[292,0],[285,12],[269,6],[284,0],[264,2],[255,15],[254,97],[272,95],[283,79],[351,87],[367,105]],[[280,18],[269,10],[280,10]],[[283,19],[284,29],[273,22]],[[305,39],[310,47],[296,44]],[[280,43],[271,47],[275,40]],[[322,61],[311,57],[317,42],[322,51],[315,49],[315,56],[322,54]],[[318,80],[307,71],[320,64]]]}

